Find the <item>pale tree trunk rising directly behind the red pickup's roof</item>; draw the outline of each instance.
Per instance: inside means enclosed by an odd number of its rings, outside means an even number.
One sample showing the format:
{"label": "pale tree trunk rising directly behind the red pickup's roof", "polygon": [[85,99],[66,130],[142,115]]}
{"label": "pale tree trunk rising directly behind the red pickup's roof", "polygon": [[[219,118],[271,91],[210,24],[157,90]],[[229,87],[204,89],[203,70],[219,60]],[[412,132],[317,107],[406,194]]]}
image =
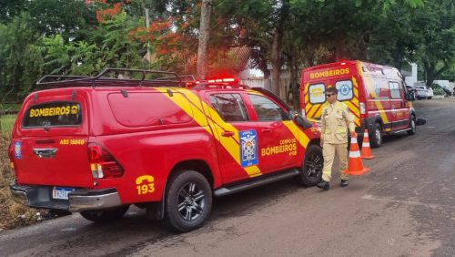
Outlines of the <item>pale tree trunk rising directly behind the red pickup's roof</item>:
{"label": "pale tree trunk rising directly behind the red pickup's roof", "polygon": [[201,18],[199,25],[199,45],[197,47],[197,78],[205,79],[207,75],[207,46],[210,36],[210,14],[212,1],[202,0]]}

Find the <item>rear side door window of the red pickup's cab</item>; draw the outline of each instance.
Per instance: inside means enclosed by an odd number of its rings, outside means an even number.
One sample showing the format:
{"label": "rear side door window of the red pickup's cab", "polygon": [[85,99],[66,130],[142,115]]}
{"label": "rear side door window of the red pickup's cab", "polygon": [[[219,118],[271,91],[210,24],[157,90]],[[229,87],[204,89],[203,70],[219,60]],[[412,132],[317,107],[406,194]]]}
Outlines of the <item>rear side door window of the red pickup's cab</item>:
{"label": "rear side door window of the red pickup's cab", "polygon": [[248,112],[240,94],[215,94],[210,96],[210,103],[226,122],[248,121]]}

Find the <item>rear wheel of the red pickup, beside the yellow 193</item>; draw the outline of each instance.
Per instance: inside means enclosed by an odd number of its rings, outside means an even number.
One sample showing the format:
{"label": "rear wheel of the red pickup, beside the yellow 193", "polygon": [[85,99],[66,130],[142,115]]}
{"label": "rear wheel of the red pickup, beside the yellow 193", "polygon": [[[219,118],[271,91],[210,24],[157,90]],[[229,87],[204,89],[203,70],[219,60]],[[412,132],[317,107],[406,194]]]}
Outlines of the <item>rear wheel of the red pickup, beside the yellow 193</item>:
{"label": "rear wheel of the red pickup, beside the yellow 193", "polygon": [[183,170],[169,180],[165,224],[173,231],[187,232],[201,227],[212,208],[212,190],[206,177]]}

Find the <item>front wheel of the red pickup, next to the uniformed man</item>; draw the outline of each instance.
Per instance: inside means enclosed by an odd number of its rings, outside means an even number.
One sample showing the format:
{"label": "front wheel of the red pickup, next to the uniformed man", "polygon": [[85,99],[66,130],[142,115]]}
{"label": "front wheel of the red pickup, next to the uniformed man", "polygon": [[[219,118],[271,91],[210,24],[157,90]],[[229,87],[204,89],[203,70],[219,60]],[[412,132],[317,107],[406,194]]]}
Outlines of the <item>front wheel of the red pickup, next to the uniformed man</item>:
{"label": "front wheel of the red pickup, next to the uniformed man", "polygon": [[318,145],[309,145],[305,151],[302,170],[296,180],[305,187],[318,184],[322,178],[323,165],[322,149]]}

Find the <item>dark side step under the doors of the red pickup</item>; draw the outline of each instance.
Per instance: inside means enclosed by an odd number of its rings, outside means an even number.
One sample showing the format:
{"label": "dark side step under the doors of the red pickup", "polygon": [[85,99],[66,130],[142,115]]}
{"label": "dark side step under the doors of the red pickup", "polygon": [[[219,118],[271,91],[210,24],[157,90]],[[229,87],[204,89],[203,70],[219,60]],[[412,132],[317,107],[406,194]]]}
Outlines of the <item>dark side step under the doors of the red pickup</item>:
{"label": "dark side step under the doors of the red pickup", "polygon": [[266,175],[264,177],[254,178],[252,180],[247,180],[245,182],[237,183],[232,186],[226,186],[219,188],[214,191],[215,196],[225,196],[232,193],[237,193],[238,191],[248,190],[252,188],[256,188],[258,186],[266,185],[271,182],[275,182],[278,180],[285,180],[291,177],[298,176],[300,171],[298,169],[292,170],[284,170],[282,172],[278,172],[278,174],[273,175]]}

